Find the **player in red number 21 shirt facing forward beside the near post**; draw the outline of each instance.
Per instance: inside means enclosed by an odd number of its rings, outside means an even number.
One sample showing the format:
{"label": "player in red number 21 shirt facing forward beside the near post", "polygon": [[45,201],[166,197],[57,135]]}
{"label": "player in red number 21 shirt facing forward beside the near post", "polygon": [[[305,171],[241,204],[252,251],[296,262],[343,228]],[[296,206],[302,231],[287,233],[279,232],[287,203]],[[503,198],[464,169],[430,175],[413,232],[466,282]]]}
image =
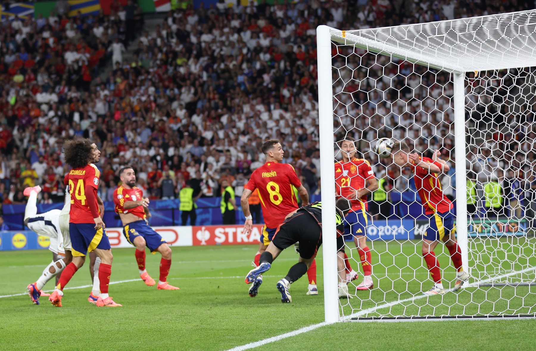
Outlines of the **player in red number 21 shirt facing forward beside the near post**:
{"label": "player in red number 21 shirt facing forward beside the near post", "polygon": [[[372,257],[367,246],[368,227],[368,203],[367,195],[378,189],[378,181],[374,176],[374,171],[370,163],[364,159],[355,157],[357,150],[354,144],[355,139],[345,137],[340,141],[339,148],[343,155],[342,162],[335,163],[335,187],[337,197],[344,197],[351,201],[352,209],[344,220],[344,234],[352,234],[355,247],[363,268],[363,281],[358,285],[358,290],[367,290],[374,287],[372,280]],[[357,278],[357,273],[352,270],[348,262],[346,253],[345,265],[347,270],[347,281]]]}

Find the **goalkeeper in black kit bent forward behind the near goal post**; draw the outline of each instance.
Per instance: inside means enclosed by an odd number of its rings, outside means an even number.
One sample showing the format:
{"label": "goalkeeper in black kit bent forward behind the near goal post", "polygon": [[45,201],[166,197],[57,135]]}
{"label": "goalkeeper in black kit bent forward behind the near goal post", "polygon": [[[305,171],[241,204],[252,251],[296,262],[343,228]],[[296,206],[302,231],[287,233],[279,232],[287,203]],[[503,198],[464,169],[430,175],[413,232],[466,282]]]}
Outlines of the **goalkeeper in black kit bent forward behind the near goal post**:
{"label": "goalkeeper in black kit bent forward behind the near goal post", "polygon": [[[336,203],[337,221],[337,248],[344,248],[344,238],[341,232],[344,230],[343,218],[350,210],[350,204],[346,199],[339,199]],[[272,262],[281,251],[299,242],[300,258],[298,263],[291,267],[285,278],[278,281],[276,287],[281,293],[281,302],[292,302],[289,293],[290,285],[300,279],[311,266],[318,249],[322,245],[322,203],[316,202],[303,206],[287,215],[285,221],[277,228],[270,245],[260,255],[259,266],[249,271],[245,282],[253,282],[260,274],[272,267]],[[344,252],[344,251],[343,251]],[[338,266],[342,268],[343,257],[339,256]],[[339,274],[339,279],[341,279]]]}

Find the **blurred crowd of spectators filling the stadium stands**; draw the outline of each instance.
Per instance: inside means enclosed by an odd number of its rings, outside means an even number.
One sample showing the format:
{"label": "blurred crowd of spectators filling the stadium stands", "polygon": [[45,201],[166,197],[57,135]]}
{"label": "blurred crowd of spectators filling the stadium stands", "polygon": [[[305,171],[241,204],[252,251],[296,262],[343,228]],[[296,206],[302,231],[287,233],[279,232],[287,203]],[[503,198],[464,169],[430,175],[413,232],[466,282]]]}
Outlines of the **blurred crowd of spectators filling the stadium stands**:
{"label": "blurred crowd of spectators filling the stadium stands", "polygon": [[[528,8],[526,3],[500,0],[312,0],[278,5],[261,0],[250,6],[228,7],[223,2],[208,9],[190,6],[169,12],[155,31],[141,32],[133,59],[126,61],[123,51],[133,39],[127,23],[129,19],[132,23],[132,16],[140,19],[136,5],[129,0],[128,6],[122,8],[114,1],[109,16],[16,18],[2,26],[0,194],[4,204],[24,203],[22,190],[35,184],[43,187],[41,202],[62,201],[67,170],[62,145],[76,136],[94,140],[101,150],[97,166],[102,170],[104,200],[111,200],[117,170],[124,165],[136,168],[139,185],[151,199],[176,197],[187,181],[195,195],[217,197],[219,184],[228,180],[240,196],[251,171],[263,164],[260,145],[267,138],[282,141],[284,162],[294,166],[308,191],[319,193],[315,40],[319,24],[370,28]],[[352,55],[349,61],[342,56],[334,60],[341,74],[345,67],[358,68],[376,59],[364,51],[356,53],[359,56]],[[376,68],[391,70],[389,82],[378,80],[374,66],[354,72],[354,79],[340,91],[349,93],[345,99],[355,106],[347,114],[346,106],[339,105],[336,114],[341,118],[336,121],[354,125],[352,116],[366,116],[355,119],[359,133],[351,131],[361,140],[358,149],[364,154],[377,138],[393,137],[409,141],[425,154],[438,148],[452,160],[448,75],[390,63],[385,56],[379,60]],[[101,80],[98,73],[106,65],[113,65],[113,70]],[[489,90],[479,91],[478,84],[468,89],[468,103],[474,102],[473,115],[479,116],[475,120],[492,123],[502,103],[490,111],[480,99]],[[525,148],[530,148],[536,132],[529,125],[532,109],[536,105],[527,109],[531,113],[524,120],[514,118],[509,132],[497,130],[494,145],[480,143],[470,151],[468,168],[475,177],[482,182],[515,178],[523,185],[510,186],[520,189],[514,193],[536,191],[534,175],[526,175],[534,157],[528,152],[525,162],[519,156],[528,151]],[[478,130],[478,123],[471,128]],[[505,164],[505,152],[512,155],[510,163],[525,163]],[[367,157],[377,160],[376,155]],[[374,165],[376,176],[388,180],[386,190],[411,189],[411,174],[400,175],[386,162]],[[455,186],[452,166],[443,186],[449,196]],[[501,169],[508,174],[501,174]]]}

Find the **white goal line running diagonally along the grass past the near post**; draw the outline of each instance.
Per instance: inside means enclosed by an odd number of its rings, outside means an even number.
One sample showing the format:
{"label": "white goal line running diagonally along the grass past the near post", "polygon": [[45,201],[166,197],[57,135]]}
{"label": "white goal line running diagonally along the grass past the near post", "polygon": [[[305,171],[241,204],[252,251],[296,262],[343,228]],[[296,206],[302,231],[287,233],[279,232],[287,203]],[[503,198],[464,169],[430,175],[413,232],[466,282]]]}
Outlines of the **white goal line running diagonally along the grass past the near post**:
{"label": "white goal line running diagonally along the grass past the near post", "polygon": [[[489,282],[489,281],[493,281],[495,279],[501,279],[501,278],[505,278],[505,277],[510,277],[511,275],[521,274],[521,273],[525,273],[525,272],[533,271],[533,270],[536,270],[536,267],[529,267],[529,268],[525,268],[522,271],[511,272],[511,273],[499,275],[499,276],[494,277],[494,278],[483,279],[483,280],[480,280],[478,282],[475,282],[474,284]],[[451,289],[449,289],[448,291],[450,292]],[[355,317],[360,317],[360,316],[366,315],[367,313],[375,312],[378,309],[391,307],[391,306],[398,305],[398,304],[404,303],[404,302],[420,300],[421,298],[425,298],[425,297],[429,297],[429,296],[427,296],[427,295],[416,295],[416,296],[413,296],[413,297],[410,297],[410,298],[406,298],[404,300],[398,300],[398,301],[385,303],[385,304],[378,305],[376,307],[372,307],[372,308],[369,308],[369,309],[366,309],[366,310],[363,310],[363,311],[360,311],[360,312],[353,313],[352,315],[343,317],[343,320],[350,320],[350,319],[355,318]],[[334,322],[334,323],[337,323],[337,322]],[[263,339],[263,340],[259,340],[259,341],[255,341],[255,342],[250,342],[250,343],[247,343],[247,344],[242,345],[242,346],[236,346],[234,348],[228,349],[227,351],[248,350],[248,349],[251,349],[251,348],[266,345],[267,343],[270,343],[270,342],[275,342],[275,341],[279,341],[279,340],[286,339],[286,338],[289,338],[289,337],[294,337],[295,335],[307,333],[307,332],[310,332],[311,330],[315,330],[317,328],[323,327],[325,325],[330,325],[330,324],[333,324],[333,323],[331,323],[331,322],[322,322],[322,323],[313,324],[313,325],[310,325],[310,326],[307,326],[307,327],[297,329],[297,330],[292,331],[292,332],[288,332],[288,333],[281,334],[281,335],[276,335],[275,337],[271,337],[271,338],[267,338],[267,339]]]}

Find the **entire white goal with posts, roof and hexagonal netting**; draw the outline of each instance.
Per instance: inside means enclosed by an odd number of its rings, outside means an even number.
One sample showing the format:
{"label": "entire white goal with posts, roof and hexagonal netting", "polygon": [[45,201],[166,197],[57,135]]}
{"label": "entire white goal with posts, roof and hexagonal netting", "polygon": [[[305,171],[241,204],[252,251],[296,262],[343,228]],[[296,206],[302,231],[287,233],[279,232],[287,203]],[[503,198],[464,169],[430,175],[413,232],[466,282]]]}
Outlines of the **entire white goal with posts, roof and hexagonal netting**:
{"label": "entire white goal with posts, roof and hexagonal netting", "polygon": [[[364,160],[356,165],[370,164],[380,188],[361,214],[366,248],[345,236],[355,280],[339,281],[334,211],[323,213],[327,321],[535,316],[535,38],[536,11],[356,31],[318,27],[323,207],[334,208],[333,193],[340,195],[331,164],[343,162],[343,140],[355,140],[355,158]],[[456,250],[440,241],[433,251],[444,294],[423,294],[438,286],[423,236],[449,237],[450,227],[425,213],[416,184],[430,179],[419,182],[410,167],[379,158],[379,138],[449,166],[429,185],[453,203],[470,274],[460,289],[453,291]],[[354,186],[363,175],[346,170],[345,177]],[[373,286],[364,281],[368,262]],[[348,298],[339,298],[345,283]]]}

